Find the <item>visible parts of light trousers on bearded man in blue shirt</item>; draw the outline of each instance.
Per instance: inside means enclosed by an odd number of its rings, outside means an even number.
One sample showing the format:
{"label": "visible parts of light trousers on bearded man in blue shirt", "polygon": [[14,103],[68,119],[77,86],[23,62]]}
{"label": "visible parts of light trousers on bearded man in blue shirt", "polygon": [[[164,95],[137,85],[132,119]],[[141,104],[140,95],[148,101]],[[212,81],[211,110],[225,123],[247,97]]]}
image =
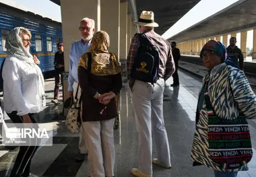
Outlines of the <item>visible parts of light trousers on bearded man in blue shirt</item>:
{"label": "visible parts of light trousers on bearded man in blue shirt", "polygon": [[[77,86],[78,83],[73,83],[73,98],[75,99],[75,94],[77,92]],[[77,99],[79,99],[81,96],[81,88],[79,87],[78,93],[77,93]],[[86,147],[86,141],[84,140],[84,131],[82,129],[82,126],[80,127],[79,131],[79,151],[80,153],[88,153],[88,149]]]}

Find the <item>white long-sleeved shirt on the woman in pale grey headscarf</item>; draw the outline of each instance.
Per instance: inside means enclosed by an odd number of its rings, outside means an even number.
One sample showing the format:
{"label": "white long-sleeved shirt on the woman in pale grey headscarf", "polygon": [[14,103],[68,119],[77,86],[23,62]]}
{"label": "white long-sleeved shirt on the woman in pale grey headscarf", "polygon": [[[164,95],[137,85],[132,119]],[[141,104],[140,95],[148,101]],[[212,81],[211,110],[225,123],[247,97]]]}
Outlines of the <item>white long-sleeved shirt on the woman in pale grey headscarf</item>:
{"label": "white long-sleeved shirt on the woman in pale grey headscarf", "polygon": [[42,111],[36,69],[16,57],[8,56],[3,65],[3,102],[5,111],[17,111],[19,116]]}

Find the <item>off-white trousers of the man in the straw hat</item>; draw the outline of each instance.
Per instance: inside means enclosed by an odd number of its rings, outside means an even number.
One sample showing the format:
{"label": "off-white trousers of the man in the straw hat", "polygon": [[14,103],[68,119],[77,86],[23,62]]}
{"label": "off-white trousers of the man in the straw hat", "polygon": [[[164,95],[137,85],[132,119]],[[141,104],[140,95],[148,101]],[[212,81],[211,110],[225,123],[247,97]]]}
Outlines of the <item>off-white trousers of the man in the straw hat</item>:
{"label": "off-white trousers of the man in the straw hat", "polygon": [[163,113],[164,79],[158,79],[154,86],[136,80],[132,90],[139,139],[139,170],[152,174],[152,129],[158,160],[167,166],[170,165],[170,149]]}

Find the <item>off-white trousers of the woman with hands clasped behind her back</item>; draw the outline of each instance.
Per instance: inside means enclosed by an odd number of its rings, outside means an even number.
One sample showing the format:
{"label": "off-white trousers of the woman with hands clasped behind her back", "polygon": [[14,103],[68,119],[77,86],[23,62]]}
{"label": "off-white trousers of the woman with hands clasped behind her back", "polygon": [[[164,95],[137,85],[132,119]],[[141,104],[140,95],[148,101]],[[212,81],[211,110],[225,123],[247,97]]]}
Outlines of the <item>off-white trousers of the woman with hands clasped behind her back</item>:
{"label": "off-white trousers of the woman with hands clasped behind her back", "polygon": [[86,129],[88,162],[91,177],[114,176],[115,144],[113,126],[115,118],[104,121],[82,122]]}

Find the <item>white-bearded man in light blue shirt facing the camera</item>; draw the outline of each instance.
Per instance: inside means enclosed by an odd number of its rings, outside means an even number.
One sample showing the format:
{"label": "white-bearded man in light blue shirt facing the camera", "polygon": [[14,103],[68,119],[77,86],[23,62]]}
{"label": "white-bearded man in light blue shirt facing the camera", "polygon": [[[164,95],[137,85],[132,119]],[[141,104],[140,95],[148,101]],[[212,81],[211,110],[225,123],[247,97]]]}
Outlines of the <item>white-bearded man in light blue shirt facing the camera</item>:
{"label": "white-bearded man in light blue shirt facing the camera", "polygon": [[[71,44],[70,48],[70,63],[69,63],[69,88],[68,88],[68,97],[75,98],[75,94],[78,86],[78,76],[77,69],[80,57],[87,52],[90,47],[91,39],[95,31],[95,22],[88,17],[85,17],[79,23],[79,30],[81,32],[81,40],[77,40]],[[81,88],[78,90],[77,98],[81,94]],[[76,162],[84,161],[86,155],[88,154],[88,149],[84,141],[84,133],[82,127],[80,129],[79,135],[79,155],[75,158]]]}

